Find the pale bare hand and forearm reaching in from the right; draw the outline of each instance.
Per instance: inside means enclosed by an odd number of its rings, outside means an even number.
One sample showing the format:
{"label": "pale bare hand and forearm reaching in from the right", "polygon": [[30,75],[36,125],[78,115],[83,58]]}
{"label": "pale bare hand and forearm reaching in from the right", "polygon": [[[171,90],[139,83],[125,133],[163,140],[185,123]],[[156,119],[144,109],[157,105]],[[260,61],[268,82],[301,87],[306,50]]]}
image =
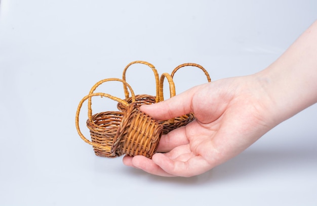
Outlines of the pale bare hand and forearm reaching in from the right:
{"label": "pale bare hand and forearm reaching in from the right", "polygon": [[[152,159],[127,166],[190,177],[239,155],[270,129],[317,102],[317,21],[274,63],[249,76],[195,86],[141,111],[156,120],[193,112],[196,120],[163,135]],[[164,152],[164,153],[160,153]]]}

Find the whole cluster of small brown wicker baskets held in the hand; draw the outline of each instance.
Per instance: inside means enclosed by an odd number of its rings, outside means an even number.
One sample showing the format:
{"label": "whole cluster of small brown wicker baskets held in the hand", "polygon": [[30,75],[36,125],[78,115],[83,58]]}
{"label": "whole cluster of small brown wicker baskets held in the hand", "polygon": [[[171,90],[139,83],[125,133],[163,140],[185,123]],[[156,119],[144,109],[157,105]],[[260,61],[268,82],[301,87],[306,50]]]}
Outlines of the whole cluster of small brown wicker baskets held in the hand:
{"label": "whole cluster of small brown wicker baskets held in the hand", "polygon": [[[126,81],[126,71],[133,64],[144,64],[152,69],[155,77],[156,95],[138,94],[135,95],[133,89]],[[107,78],[97,82],[78,105],[75,117],[76,129],[80,137],[93,146],[95,154],[100,157],[115,158],[122,155],[136,156],[142,155],[152,158],[159,145],[162,134],[185,126],[194,120],[194,114],[189,113],[181,117],[170,120],[156,121],[141,112],[139,107],[144,104],[155,104],[164,100],[163,85],[167,78],[170,86],[170,96],[176,95],[173,77],[175,72],[186,66],[200,68],[211,81],[208,72],[200,65],[186,63],[176,67],[171,74],[163,73],[161,78],[155,67],[144,61],[131,62],[123,71],[122,79]],[[112,96],[107,93],[94,93],[96,88],[104,82],[119,81],[123,83],[125,99]],[[131,92],[131,96],[129,90]],[[118,111],[107,111],[92,114],[92,97],[107,97],[117,102]],[[90,130],[91,141],[88,140],[80,130],[79,116],[84,102],[88,100],[88,120],[87,127]]]}

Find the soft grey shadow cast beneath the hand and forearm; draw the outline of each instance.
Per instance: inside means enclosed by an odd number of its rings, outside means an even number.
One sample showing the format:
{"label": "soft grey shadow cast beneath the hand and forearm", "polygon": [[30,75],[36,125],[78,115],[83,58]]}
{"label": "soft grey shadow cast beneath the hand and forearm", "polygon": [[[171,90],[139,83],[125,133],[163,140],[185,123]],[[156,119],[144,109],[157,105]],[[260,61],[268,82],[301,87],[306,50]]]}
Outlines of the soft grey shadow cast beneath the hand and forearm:
{"label": "soft grey shadow cast beneath the hand and forearm", "polygon": [[[315,145],[314,145],[315,146]],[[274,173],[290,175],[301,167],[315,170],[316,149],[311,148],[249,148],[239,156],[212,169],[211,171],[190,178],[182,177],[157,177],[147,175],[145,172],[129,168],[122,173],[133,176],[148,178],[151,181],[163,181],[168,184],[191,185],[191,184],[215,184],[236,182],[248,179],[268,177]],[[304,171],[303,171],[304,172]],[[307,171],[306,171],[307,172]],[[308,171],[308,174],[310,172]]]}

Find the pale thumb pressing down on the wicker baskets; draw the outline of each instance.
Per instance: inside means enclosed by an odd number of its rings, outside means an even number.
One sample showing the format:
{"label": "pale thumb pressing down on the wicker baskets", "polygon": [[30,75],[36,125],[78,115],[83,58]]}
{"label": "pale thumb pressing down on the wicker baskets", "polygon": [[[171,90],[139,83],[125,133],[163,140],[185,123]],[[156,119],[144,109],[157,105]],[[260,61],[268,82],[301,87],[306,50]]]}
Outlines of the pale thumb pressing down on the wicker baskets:
{"label": "pale thumb pressing down on the wicker baskets", "polygon": [[142,105],[140,110],[156,120],[168,120],[192,111],[192,96],[197,90],[193,87],[183,93],[152,105]]}

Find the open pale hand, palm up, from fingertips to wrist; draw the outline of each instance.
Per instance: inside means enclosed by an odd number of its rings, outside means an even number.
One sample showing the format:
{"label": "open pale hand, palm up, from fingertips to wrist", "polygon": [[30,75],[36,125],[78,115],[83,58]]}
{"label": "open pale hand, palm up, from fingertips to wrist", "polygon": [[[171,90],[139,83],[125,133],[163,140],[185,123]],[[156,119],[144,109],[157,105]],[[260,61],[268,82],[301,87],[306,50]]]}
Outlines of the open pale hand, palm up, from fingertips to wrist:
{"label": "open pale hand, palm up, from fingertips to wrist", "polygon": [[203,84],[141,106],[141,111],[157,120],[190,112],[196,119],[162,136],[157,151],[166,153],[155,153],[152,160],[126,156],[123,162],[160,176],[202,174],[238,155],[275,126],[267,115],[271,103],[267,96],[253,75]]}

